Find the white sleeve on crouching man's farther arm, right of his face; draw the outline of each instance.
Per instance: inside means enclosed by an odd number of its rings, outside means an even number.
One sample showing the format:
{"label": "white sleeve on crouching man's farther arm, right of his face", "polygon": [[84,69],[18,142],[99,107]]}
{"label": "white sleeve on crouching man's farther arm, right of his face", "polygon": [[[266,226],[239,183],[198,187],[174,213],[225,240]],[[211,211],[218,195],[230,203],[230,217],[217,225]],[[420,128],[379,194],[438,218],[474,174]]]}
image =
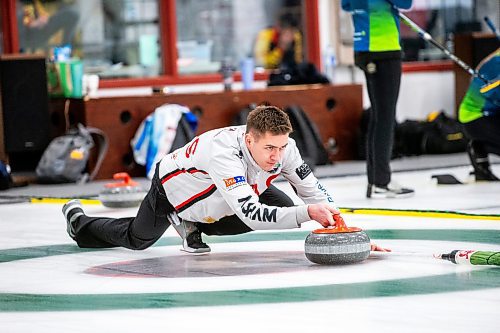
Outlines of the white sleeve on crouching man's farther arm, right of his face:
{"label": "white sleeve on crouching man's farther arm, right of his face", "polygon": [[314,176],[311,168],[302,160],[295,141],[290,140],[289,151],[283,159],[283,176],[297,191],[305,203],[327,203],[335,207],[332,196],[326,187]]}

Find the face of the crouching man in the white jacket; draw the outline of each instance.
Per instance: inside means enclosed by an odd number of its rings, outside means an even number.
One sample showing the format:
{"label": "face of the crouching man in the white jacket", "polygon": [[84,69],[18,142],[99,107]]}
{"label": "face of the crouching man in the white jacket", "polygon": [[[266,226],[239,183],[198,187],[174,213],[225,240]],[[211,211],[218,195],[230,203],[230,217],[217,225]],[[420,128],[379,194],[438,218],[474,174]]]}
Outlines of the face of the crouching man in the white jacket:
{"label": "face of the crouching man in the white jacket", "polygon": [[253,159],[265,171],[271,171],[281,161],[288,145],[288,134],[258,135],[253,131],[245,134],[245,143]]}

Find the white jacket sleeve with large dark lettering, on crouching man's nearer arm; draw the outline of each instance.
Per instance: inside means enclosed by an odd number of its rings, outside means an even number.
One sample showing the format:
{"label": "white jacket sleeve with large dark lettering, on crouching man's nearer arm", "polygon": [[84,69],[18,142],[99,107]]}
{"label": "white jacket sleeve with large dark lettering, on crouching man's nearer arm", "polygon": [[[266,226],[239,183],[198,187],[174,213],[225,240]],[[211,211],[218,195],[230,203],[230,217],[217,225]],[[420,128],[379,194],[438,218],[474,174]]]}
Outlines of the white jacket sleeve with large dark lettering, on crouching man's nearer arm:
{"label": "white jacket sleeve with large dark lettering, on crouching man's nearer arm", "polygon": [[208,173],[224,200],[248,227],[253,230],[292,229],[310,220],[305,205],[274,207],[260,203],[245,179],[246,168],[237,151],[231,147],[214,148]]}

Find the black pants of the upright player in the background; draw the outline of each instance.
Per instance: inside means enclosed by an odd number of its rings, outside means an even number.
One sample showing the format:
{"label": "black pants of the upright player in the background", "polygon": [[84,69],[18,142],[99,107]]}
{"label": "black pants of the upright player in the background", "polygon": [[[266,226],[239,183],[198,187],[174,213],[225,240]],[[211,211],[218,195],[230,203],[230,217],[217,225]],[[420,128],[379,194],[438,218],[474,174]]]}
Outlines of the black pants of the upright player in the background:
{"label": "black pants of the upright player in the background", "polygon": [[396,103],[401,82],[401,58],[373,59],[356,56],[366,77],[371,103],[366,142],[368,183],[385,186],[391,181]]}

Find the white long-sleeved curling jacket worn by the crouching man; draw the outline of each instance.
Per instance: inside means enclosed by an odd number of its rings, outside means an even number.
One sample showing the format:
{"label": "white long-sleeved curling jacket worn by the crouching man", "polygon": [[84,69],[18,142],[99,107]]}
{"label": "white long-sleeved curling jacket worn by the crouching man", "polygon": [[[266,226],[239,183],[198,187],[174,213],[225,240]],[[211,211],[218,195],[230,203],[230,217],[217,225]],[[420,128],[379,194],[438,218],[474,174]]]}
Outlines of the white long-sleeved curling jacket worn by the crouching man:
{"label": "white long-sleeved curling jacket worn by the crouching man", "polygon": [[160,181],[179,217],[213,223],[236,214],[253,230],[297,228],[311,219],[306,205],[274,207],[259,202],[258,195],[280,174],[305,203],[334,205],[292,138],[282,161],[267,172],[250,155],[245,129],[243,125],[205,132],[160,161]]}

